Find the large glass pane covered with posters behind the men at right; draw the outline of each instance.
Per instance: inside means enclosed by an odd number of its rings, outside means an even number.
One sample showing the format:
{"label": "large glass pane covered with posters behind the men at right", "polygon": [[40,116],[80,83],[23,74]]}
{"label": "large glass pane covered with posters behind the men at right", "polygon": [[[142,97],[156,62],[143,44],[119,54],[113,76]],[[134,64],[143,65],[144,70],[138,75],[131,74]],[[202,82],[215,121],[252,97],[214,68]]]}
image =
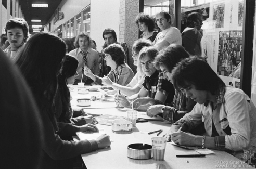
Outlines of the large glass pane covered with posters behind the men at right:
{"label": "large glass pane covered with posters behind the men at right", "polygon": [[[193,4],[195,2],[197,4]],[[202,14],[202,57],[225,84],[237,88],[240,88],[243,4],[244,0],[181,1],[181,32],[189,27],[186,24],[188,14]]]}

